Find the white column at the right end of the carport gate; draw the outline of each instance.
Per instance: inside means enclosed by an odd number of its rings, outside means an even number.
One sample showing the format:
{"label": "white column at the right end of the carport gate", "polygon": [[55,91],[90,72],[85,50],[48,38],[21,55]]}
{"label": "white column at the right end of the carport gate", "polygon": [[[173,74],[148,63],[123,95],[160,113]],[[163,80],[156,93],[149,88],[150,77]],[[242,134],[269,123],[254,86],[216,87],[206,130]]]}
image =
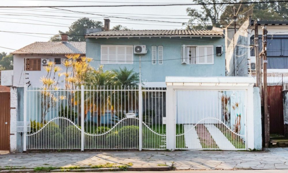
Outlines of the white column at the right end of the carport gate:
{"label": "white column at the right end of the carport gate", "polygon": [[[253,114],[253,86],[247,89],[247,149],[254,149],[254,114]],[[260,120],[259,120],[260,121]]]}

